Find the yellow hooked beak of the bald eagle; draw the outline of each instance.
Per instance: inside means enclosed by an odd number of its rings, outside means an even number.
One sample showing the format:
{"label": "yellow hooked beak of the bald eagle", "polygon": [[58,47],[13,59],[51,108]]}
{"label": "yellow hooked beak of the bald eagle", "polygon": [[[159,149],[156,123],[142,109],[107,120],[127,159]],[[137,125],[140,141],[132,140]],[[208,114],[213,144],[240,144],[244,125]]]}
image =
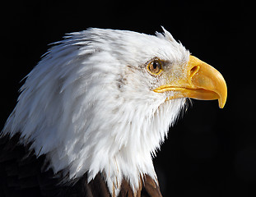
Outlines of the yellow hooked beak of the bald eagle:
{"label": "yellow hooked beak of the bald eagle", "polygon": [[189,57],[188,65],[184,69],[183,79],[172,84],[161,85],[154,89],[154,92],[173,91],[175,94],[168,99],[184,97],[199,100],[218,99],[219,107],[224,108],[227,88],[226,81],[219,71],[193,56]]}

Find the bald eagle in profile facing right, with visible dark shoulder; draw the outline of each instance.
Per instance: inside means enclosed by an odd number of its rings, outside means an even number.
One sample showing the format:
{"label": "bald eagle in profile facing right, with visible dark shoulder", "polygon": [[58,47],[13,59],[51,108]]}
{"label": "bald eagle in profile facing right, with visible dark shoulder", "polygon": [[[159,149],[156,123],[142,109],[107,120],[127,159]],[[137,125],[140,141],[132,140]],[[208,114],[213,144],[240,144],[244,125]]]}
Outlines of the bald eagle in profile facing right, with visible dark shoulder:
{"label": "bald eagle in profile facing right, with visible dark shoulder", "polygon": [[152,157],[187,98],[226,82],[163,28],[67,34],[26,76],[1,133],[1,196],[161,196]]}

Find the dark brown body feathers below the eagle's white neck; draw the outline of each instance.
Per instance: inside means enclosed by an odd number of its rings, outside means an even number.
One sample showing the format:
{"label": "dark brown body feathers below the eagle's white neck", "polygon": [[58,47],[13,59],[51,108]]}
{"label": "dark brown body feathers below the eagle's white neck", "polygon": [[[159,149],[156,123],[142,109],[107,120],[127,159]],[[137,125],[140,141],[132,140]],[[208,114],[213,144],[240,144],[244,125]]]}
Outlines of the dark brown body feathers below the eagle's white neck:
{"label": "dark brown body feathers below the eagle's white neck", "polygon": [[[86,174],[72,184],[59,184],[56,176],[45,165],[45,155],[36,158],[30,145],[19,144],[20,135],[0,138],[0,196],[1,197],[110,197],[103,174],[98,173],[88,183]],[[46,166],[46,167],[45,167]],[[161,197],[159,186],[145,175],[134,196],[128,181],[123,180],[119,197]]]}

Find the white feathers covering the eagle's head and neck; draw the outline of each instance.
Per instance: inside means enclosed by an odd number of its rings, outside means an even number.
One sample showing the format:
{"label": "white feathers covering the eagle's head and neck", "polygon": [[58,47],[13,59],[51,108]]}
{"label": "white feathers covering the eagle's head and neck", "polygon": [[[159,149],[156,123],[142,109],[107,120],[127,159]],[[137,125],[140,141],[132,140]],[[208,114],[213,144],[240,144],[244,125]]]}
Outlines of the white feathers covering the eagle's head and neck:
{"label": "white feathers covering the eagle's head and neck", "polygon": [[189,61],[189,51],[164,31],[68,34],[27,76],[3,134],[21,132],[21,143],[46,154],[65,181],[103,172],[117,194],[123,178],[134,191],[143,174],[156,179],[151,157],[185,98],[165,101],[167,94],[153,92],[165,79],[145,65],[154,57],[178,69]]}

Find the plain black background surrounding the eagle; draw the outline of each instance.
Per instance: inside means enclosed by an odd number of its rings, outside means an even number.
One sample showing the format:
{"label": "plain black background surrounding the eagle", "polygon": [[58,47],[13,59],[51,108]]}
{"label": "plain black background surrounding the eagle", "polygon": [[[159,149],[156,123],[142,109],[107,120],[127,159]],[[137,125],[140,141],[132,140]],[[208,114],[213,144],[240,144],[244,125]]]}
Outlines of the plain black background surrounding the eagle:
{"label": "plain black background surrounding the eagle", "polygon": [[254,18],[254,4],[245,1],[9,1],[1,16],[1,126],[22,78],[65,33],[99,27],[154,34],[163,25],[228,86],[224,109],[193,100],[170,129],[154,159],[163,195],[255,196]]}

